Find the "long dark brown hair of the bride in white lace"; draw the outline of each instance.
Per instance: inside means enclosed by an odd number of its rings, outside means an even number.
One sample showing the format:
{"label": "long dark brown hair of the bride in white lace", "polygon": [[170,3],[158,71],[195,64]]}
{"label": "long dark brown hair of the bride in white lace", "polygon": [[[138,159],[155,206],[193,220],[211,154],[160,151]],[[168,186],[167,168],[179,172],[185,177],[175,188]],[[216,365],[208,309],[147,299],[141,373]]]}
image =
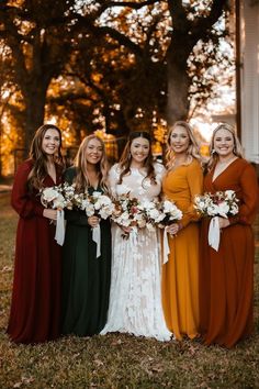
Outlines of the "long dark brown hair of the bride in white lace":
{"label": "long dark brown hair of the bride in white lace", "polygon": [[132,164],[131,146],[133,141],[136,140],[137,137],[144,137],[149,142],[149,146],[150,146],[148,156],[144,162],[144,167],[147,168],[147,175],[144,178],[144,180],[146,178],[149,178],[153,184],[156,184],[156,176],[155,176],[153,155],[151,155],[151,137],[150,134],[146,131],[134,131],[130,134],[128,141],[124,147],[121,159],[119,162],[119,167],[121,170],[119,184],[122,184],[123,176],[127,175],[128,171],[131,170],[131,164]]}

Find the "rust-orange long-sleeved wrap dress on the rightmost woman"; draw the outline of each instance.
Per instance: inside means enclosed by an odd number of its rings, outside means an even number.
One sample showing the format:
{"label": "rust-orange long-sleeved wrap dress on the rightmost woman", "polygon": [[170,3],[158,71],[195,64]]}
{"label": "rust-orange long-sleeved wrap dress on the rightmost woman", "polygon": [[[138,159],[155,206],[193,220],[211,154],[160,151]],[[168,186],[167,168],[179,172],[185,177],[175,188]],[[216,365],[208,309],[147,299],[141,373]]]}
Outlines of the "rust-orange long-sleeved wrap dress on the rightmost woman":
{"label": "rust-orange long-sleeved wrap dress on the rightmost woman", "polygon": [[239,212],[222,229],[218,252],[207,244],[209,220],[201,231],[200,319],[205,344],[232,347],[252,332],[255,242],[251,223],[257,210],[257,178],[245,159],[235,159],[204,191],[235,190]]}

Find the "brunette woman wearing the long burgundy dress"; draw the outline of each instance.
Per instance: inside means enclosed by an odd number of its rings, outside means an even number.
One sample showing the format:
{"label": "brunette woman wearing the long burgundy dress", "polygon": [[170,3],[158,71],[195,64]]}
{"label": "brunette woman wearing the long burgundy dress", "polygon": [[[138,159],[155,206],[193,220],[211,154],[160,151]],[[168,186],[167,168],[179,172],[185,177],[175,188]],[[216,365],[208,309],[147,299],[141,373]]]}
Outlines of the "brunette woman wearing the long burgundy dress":
{"label": "brunette woman wearing the long burgundy dress", "polygon": [[11,204],[20,219],[8,334],[16,343],[40,343],[59,335],[60,246],[54,240],[57,211],[44,208],[38,192],[61,182],[61,133],[42,125],[30,159],[18,169]]}

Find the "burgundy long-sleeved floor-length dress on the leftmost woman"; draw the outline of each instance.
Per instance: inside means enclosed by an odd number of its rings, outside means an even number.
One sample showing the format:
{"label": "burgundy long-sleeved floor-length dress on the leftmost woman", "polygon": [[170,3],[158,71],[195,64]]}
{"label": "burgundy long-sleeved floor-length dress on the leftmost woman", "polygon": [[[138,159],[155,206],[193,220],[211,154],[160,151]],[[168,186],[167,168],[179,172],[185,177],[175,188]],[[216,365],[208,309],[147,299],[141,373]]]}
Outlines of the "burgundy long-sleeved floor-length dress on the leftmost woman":
{"label": "burgundy long-sleeved floor-length dress on the leftmost woman", "polygon": [[[54,240],[55,225],[43,216],[40,196],[27,191],[32,166],[32,160],[26,160],[19,167],[11,196],[20,219],[7,332],[13,342],[25,344],[55,340],[60,316],[60,246]],[[58,185],[61,171],[56,170]],[[44,180],[44,187],[56,184],[50,176]]]}

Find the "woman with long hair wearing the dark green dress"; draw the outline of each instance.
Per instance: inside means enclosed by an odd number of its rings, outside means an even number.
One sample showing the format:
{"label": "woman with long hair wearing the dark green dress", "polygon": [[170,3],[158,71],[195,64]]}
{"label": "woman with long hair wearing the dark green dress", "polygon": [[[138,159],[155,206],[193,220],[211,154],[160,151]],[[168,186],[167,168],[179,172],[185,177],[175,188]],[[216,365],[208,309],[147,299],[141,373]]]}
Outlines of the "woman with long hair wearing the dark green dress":
{"label": "woman with long hair wearing the dark green dress", "polygon": [[[65,181],[77,192],[106,192],[108,164],[104,144],[95,135],[87,136],[76,156],[75,167],[65,173]],[[66,211],[66,237],[63,249],[61,333],[78,336],[98,334],[106,322],[111,271],[110,221],[87,216],[86,211]],[[100,223],[101,256],[92,229]]]}

